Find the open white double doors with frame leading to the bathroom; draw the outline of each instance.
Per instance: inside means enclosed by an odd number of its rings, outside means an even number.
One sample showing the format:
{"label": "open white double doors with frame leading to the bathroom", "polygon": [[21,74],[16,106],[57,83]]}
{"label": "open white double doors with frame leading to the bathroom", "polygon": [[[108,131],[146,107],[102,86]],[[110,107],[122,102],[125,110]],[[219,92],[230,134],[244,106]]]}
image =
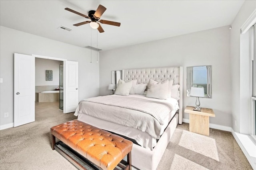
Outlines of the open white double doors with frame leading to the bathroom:
{"label": "open white double doors with frame leading to the bathroom", "polygon": [[36,58],[63,61],[63,113],[78,105],[78,62],[14,53],[14,127],[35,121]]}

